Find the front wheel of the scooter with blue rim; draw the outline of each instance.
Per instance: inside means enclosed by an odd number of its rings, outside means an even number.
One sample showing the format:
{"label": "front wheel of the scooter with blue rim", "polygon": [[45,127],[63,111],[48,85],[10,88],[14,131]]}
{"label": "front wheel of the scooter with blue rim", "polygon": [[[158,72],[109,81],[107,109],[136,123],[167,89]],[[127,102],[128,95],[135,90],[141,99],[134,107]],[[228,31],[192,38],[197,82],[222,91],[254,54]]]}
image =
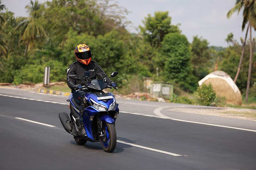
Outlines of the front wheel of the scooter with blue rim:
{"label": "front wheel of the scooter with blue rim", "polygon": [[114,124],[102,122],[101,145],[105,152],[113,152],[116,148],[116,127]]}

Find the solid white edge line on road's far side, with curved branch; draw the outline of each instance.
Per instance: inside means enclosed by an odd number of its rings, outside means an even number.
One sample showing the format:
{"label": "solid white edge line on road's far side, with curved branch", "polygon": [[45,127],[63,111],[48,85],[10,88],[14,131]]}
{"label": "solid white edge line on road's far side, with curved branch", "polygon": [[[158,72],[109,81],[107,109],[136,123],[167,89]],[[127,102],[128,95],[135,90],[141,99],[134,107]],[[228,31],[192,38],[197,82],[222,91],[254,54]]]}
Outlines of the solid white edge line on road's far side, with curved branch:
{"label": "solid white edge line on road's far side, with curved branch", "polygon": [[[37,99],[31,99],[31,98],[26,98],[26,97],[18,97],[18,96],[9,96],[9,95],[2,95],[0,94],[0,96],[6,96],[6,97],[13,97],[13,98],[18,98],[18,99],[27,99],[27,100],[34,100],[34,101],[38,101],[38,102],[46,102],[46,103],[54,103],[54,104],[63,104],[63,105],[68,105],[68,103],[59,103],[59,102],[51,102],[51,101],[46,101],[46,100],[37,100]],[[124,102],[123,102],[124,103]],[[194,124],[204,124],[204,125],[209,125],[209,126],[217,126],[217,127],[223,127],[223,128],[230,128],[230,129],[237,129],[237,130],[243,130],[243,131],[252,131],[252,132],[256,132],[256,130],[252,130],[252,129],[244,129],[244,128],[237,128],[237,127],[231,127],[231,126],[223,126],[223,125],[218,125],[218,124],[208,124],[208,123],[202,123],[202,122],[194,122],[194,121],[188,121],[188,120],[181,120],[181,119],[175,119],[172,117],[168,117],[163,115],[162,113],[160,113],[160,110],[163,108],[167,108],[166,107],[161,107],[161,108],[157,108],[157,113],[159,116],[154,116],[154,115],[145,115],[145,114],[141,114],[141,113],[132,113],[132,112],[126,112],[126,111],[120,111],[121,113],[127,113],[127,114],[133,114],[133,115],[141,115],[141,116],[147,116],[147,117],[157,117],[157,118],[161,118],[161,119],[170,119],[170,120],[175,120],[175,121],[180,121],[180,122],[188,122],[188,123],[194,123]],[[186,106],[170,106],[170,107],[186,107]],[[169,107],[168,107],[169,108]],[[159,114],[160,113],[160,114]],[[156,113],[155,113],[156,114]],[[161,116],[163,115],[163,116]]]}

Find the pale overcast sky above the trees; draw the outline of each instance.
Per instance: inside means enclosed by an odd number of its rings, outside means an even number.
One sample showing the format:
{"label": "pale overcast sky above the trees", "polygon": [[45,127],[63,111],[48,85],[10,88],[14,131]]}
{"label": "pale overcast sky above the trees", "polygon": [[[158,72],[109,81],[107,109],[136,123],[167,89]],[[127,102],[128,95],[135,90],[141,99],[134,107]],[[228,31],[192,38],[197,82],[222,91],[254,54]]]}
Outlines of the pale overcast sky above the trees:
{"label": "pale overcast sky above the trees", "polygon": [[[39,0],[45,2],[46,0]],[[235,13],[227,19],[227,12],[235,5],[235,0],[117,0],[130,13],[127,19],[132,25],[127,29],[138,32],[136,28],[142,25],[142,20],[154,11],[169,11],[172,24],[180,23],[180,29],[189,42],[193,36],[202,36],[212,46],[228,46],[225,39],[228,33],[233,32],[235,39],[244,37],[242,32],[242,15]],[[27,16],[25,6],[29,0],[2,0],[9,11],[15,16]],[[252,32],[255,36],[255,32]]]}

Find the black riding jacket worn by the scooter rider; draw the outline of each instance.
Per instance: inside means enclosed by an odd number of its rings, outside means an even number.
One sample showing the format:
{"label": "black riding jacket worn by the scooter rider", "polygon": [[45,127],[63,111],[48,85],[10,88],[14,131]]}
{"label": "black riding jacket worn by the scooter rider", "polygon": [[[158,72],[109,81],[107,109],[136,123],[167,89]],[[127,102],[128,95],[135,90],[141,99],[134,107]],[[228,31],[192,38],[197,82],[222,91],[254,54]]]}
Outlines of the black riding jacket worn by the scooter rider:
{"label": "black riding jacket worn by the scooter rider", "polygon": [[[79,63],[78,61],[75,61],[69,65],[68,70],[67,70],[67,83],[68,83],[68,87],[72,90],[72,92],[74,90],[76,90],[77,84],[84,85],[84,81],[77,81],[77,80],[70,79],[68,77],[68,75],[76,74],[77,77],[84,77],[85,71],[90,72],[91,80],[94,80],[96,78],[101,79],[101,80],[103,80],[105,77],[108,78],[107,75],[105,74],[105,72],[100,67],[100,65],[98,63],[96,63],[95,61],[92,60],[91,63],[88,65],[84,65],[84,64]],[[108,79],[107,82],[110,83],[111,80]]]}

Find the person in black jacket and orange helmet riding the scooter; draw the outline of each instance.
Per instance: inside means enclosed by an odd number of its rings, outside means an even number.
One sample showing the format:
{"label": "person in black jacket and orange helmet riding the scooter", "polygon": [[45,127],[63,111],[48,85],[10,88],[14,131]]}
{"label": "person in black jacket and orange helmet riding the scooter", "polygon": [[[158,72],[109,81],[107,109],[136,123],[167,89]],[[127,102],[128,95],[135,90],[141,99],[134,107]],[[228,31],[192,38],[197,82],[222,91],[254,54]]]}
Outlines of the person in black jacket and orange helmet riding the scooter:
{"label": "person in black jacket and orange helmet riding the scooter", "polygon": [[104,73],[100,65],[92,60],[91,49],[86,44],[79,44],[76,46],[75,56],[77,61],[70,64],[67,70],[67,83],[68,87],[71,89],[73,98],[76,103],[81,103],[79,114],[80,132],[83,136],[85,136],[86,132],[83,123],[83,113],[86,106],[86,101],[84,94],[91,92],[78,90],[82,88],[84,81],[70,79],[69,74],[76,74],[77,77],[84,77],[84,72],[90,72],[91,80],[98,78],[103,81],[107,81],[113,87],[116,87],[116,83],[111,81]]}

